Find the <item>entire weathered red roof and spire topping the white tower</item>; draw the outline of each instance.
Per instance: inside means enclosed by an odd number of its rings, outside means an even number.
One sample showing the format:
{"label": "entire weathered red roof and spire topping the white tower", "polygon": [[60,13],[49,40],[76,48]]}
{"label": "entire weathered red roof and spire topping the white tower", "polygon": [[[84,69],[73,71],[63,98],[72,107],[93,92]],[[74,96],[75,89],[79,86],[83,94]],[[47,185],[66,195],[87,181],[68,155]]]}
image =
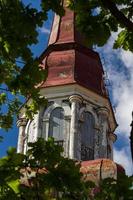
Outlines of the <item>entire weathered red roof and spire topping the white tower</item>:
{"label": "entire weathered red roof and spire topping the white tower", "polygon": [[47,80],[41,87],[77,83],[106,96],[99,55],[83,45],[75,27],[74,12],[65,10],[62,18],[55,16],[49,46],[41,56],[48,69]]}

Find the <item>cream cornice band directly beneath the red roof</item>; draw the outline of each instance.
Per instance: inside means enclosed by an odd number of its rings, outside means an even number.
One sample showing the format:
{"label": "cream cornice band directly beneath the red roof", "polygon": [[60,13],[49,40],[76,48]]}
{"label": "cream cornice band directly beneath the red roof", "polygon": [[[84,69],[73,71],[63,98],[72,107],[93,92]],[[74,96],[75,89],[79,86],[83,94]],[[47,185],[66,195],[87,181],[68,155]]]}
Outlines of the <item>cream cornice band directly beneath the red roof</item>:
{"label": "cream cornice band directly beneath the red roof", "polygon": [[[61,98],[62,100],[64,98],[69,99],[69,97],[73,96],[74,94],[79,95],[83,98],[83,103],[94,108],[95,115],[98,114],[97,108],[106,107],[109,110],[108,120],[111,132],[114,132],[117,127],[113,110],[110,102],[108,102],[108,99],[78,84],[74,83],[70,85],[42,88],[40,93],[44,95],[49,101],[53,101],[56,98]],[[98,116],[96,118],[98,119]],[[96,121],[96,123],[98,123],[98,121]]]}

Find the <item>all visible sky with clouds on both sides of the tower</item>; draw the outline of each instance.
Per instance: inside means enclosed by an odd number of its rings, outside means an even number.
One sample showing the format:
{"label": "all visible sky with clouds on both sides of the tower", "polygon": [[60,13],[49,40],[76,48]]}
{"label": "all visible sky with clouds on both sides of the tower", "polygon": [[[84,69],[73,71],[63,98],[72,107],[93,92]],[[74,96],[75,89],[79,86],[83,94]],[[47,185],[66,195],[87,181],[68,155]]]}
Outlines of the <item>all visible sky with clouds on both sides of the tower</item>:
{"label": "all visible sky with clouds on both sides of the tower", "polygon": [[[38,0],[23,0],[25,4],[32,2],[32,5],[40,9]],[[32,45],[31,49],[35,56],[39,56],[47,47],[48,36],[52,22],[53,13],[49,13],[49,19],[39,28],[38,44]],[[112,105],[115,107],[115,115],[119,127],[115,133],[118,140],[114,145],[114,159],[121,163],[128,174],[133,173],[132,161],[129,148],[129,134],[131,123],[131,112],[133,110],[133,54],[121,49],[113,50],[112,44],[116,34],[112,33],[108,43],[102,48],[96,48],[102,60],[104,60],[104,70],[107,72],[108,86]],[[103,59],[104,58],[104,59]],[[0,143],[0,157],[6,154],[9,146],[16,146],[18,129],[14,124],[9,132],[0,130],[0,135],[4,136],[4,141]]]}

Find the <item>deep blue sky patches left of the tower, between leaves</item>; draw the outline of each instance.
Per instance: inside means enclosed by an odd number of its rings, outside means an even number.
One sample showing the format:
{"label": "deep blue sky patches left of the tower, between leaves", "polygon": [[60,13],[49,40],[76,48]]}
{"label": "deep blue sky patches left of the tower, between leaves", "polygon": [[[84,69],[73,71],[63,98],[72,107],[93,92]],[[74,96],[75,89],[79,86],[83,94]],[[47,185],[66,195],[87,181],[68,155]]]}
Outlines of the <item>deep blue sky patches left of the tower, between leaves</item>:
{"label": "deep blue sky patches left of the tower, between leaves", "polygon": [[[40,9],[40,1],[37,0],[23,0],[23,2],[27,5],[29,3],[32,3],[33,7],[36,7],[37,9]],[[31,49],[34,53],[35,57],[40,56],[40,54],[46,49],[47,42],[49,38],[50,33],[50,27],[52,23],[53,13],[48,13],[48,20],[43,24],[42,28],[38,28],[39,36],[38,36],[38,44],[32,45]],[[16,127],[16,118],[14,119],[14,125],[11,130],[8,132],[5,132],[0,129],[0,135],[4,137],[4,140],[2,143],[0,143],[0,157],[4,156],[6,154],[6,150],[9,146],[15,146],[17,145],[17,137],[18,137],[18,129]]]}

